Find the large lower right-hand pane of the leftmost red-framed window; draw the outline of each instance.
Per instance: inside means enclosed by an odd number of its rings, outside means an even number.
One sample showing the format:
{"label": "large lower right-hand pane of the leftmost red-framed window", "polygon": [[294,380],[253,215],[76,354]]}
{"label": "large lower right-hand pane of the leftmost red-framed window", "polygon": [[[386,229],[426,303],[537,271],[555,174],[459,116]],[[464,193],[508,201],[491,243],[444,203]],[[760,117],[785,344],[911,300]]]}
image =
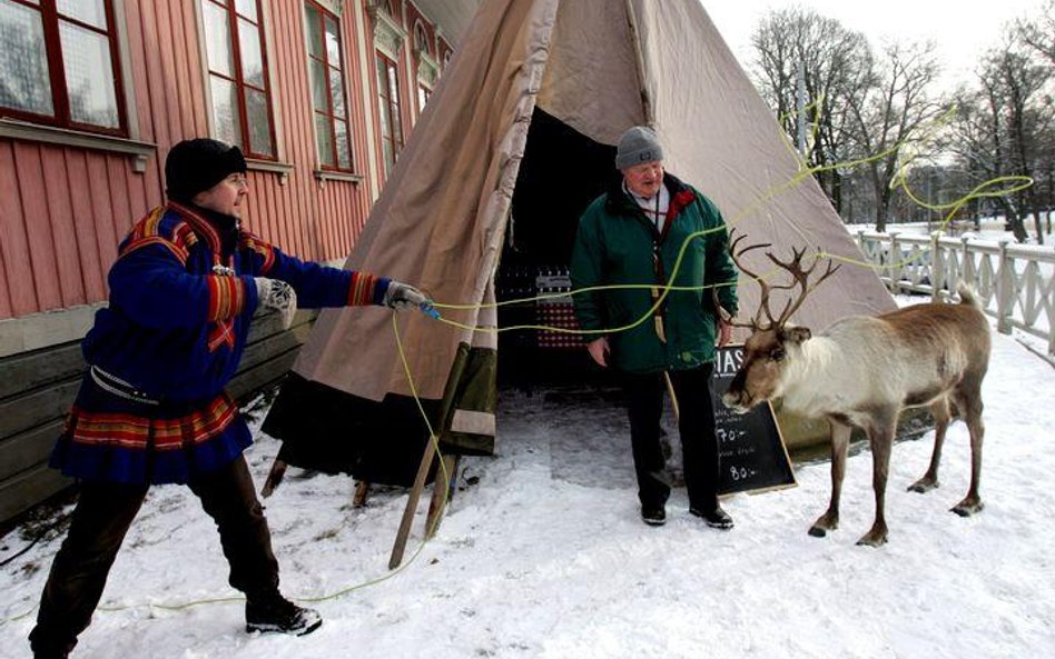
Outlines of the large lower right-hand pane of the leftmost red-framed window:
{"label": "large lower right-hand pane of the leftmost red-framed window", "polygon": [[59,21],[70,120],[119,128],[110,40],[80,26]]}

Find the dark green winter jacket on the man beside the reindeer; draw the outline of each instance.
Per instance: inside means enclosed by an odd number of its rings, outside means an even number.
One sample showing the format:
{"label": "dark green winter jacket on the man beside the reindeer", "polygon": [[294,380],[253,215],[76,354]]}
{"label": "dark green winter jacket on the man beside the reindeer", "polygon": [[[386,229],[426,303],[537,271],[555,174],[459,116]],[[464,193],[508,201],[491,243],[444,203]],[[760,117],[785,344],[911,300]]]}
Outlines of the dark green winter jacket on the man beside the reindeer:
{"label": "dark green winter jacket on the man beside the reindeer", "polygon": [[[657,231],[638,204],[618,187],[596,198],[579,220],[572,252],[573,290],[612,284],[673,284],[703,287],[716,283],[718,298],[730,313],[737,311],[737,269],[729,257],[729,237],[718,208],[702,193],[664,174],[670,191],[670,211],[664,234]],[[671,220],[670,218],[673,217]],[[678,252],[689,236],[707,231],[688,242],[684,257],[673,272]],[[659,250],[661,271],[654,266]],[[661,309],[667,342],[655,329],[649,309],[648,288],[615,288],[574,294],[575,317],[584,330],[612,330],[588,335],[586,341],[608,336],[609,363],[635,373],[684,370],[713,361],[718,318],[711,288],[671,290]],[[644,317],[644,320],[641,319]],[[639,322],[628,330],[628,324]]]}

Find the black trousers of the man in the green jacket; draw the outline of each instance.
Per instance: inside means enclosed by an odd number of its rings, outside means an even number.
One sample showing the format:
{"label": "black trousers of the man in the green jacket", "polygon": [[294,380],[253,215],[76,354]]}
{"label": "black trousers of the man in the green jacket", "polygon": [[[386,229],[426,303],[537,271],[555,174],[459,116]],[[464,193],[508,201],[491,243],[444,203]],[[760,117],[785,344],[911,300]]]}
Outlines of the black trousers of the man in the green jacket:
{"label": "black trousers of the man in the green jacket", "polygon": [[[719,456],[711,405],[712,365],[686,371],[670,371],[678,398],[678,432],[689,507],[709,512],[718,507]],[[663,373],[623,373],[623,389],[630,416],[630,442],[638,476],[638,498],[642,506],[660,507],[670,497],[670,480],[660,446],[660,418],[667,383]]]}

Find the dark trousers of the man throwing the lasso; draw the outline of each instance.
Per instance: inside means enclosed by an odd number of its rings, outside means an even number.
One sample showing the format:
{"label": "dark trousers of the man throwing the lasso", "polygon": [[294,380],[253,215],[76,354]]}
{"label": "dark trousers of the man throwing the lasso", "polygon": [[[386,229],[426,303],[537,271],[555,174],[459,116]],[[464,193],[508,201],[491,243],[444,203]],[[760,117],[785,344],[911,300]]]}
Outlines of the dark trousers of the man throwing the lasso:
{"label": "dark trousers of the man throwing the lasso", "polygon": [[[216,521],[230,565],[230,585],[250,599],[276,592],[278,561],[272,552],[270,531],[245,458],[239,456],[195,478],[188,487]],[[110,566],[148,488],[111,482],[81,485],[69,533],[51,563],[37,626],[29,635],[34,652],[60,653],[77,645],[77,636],[91,621]],[[195,561],[194,556],[180,559],[185,565]]]}

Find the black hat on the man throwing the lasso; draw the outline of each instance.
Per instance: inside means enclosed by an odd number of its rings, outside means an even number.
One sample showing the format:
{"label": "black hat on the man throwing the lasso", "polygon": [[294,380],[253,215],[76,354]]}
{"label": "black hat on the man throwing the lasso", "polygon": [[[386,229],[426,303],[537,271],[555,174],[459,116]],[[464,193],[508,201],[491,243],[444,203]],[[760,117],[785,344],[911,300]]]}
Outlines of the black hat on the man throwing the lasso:
{"label": "black hat on the man throwing the lasso", "polygon": [[172,201],[186,203],[236,171],[246,171],[246,159],[238,147],[208,138],[184,140],[165,159],[165,192]]}

